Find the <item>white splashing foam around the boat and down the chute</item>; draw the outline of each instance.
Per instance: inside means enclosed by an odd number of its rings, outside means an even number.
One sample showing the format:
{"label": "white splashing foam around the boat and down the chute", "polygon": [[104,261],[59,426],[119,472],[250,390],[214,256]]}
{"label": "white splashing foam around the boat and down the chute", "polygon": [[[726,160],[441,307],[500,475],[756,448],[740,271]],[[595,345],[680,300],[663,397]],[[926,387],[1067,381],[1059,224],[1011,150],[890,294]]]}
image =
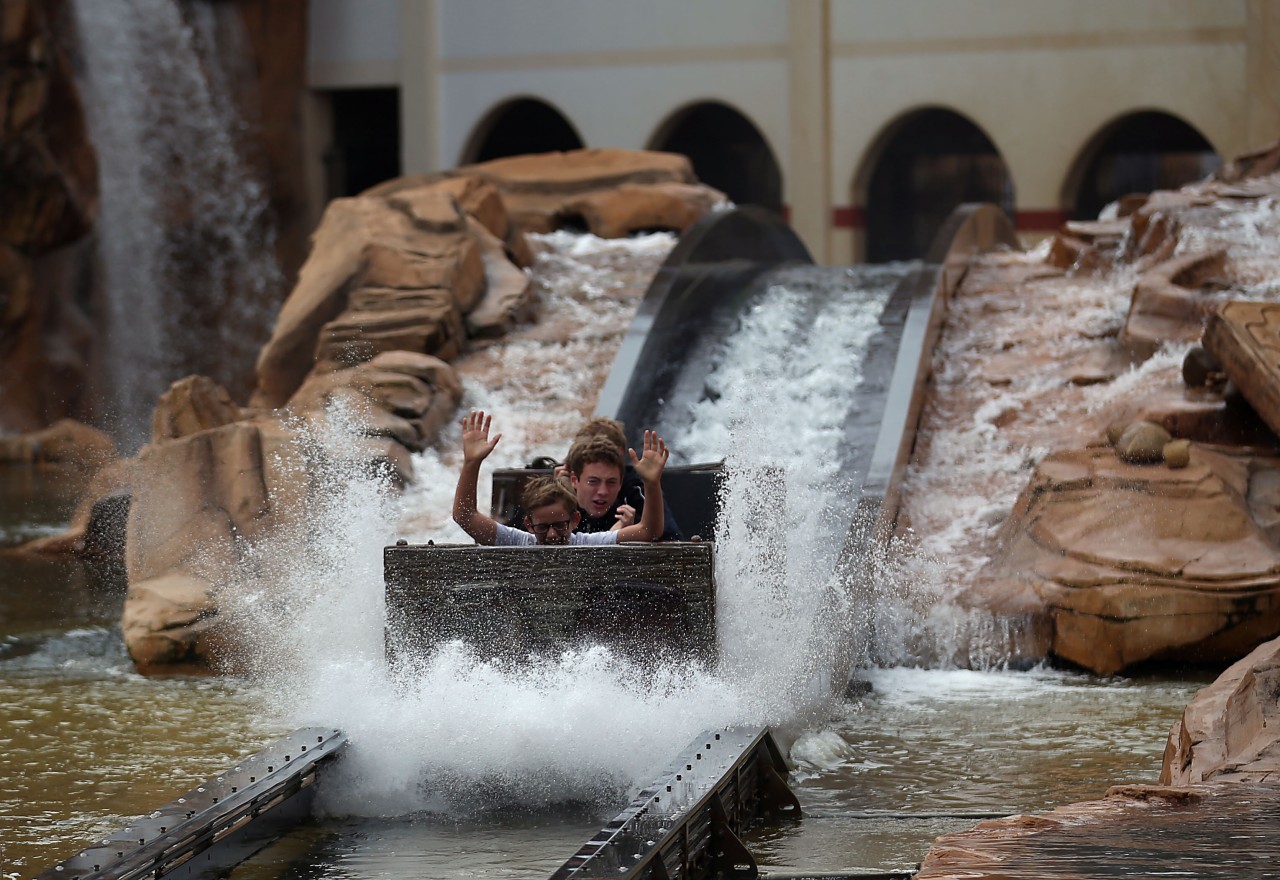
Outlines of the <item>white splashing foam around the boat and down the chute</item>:
{"label": "white splashing foam around the boat and down the chute", "polygon": [[[557,260],[594,247],[554,244]],[[603,647],[504,666],[454,643],[397,675],[383,657],[381,547],[407,521],[422,523],[424,505],[447,517],[457,427],[442,439],[443,452],[416,457],[417,485],[404,499],[324,453],[343,443],[342,413],[324,428],[334,434],[312,431],[306,476],[326,491],[298,517],[303,530],[250,549],[243,568],[253,574],[239,585],[237,613],[256,622],[260,666],[279,670],[265,674],[276,710],[352,739],[339,782],[326,787],[332,810],[616,805],[704,729],[783,724],[824,703],[829,691],[819,672],[829,670],[832,645],[822,636],[832,620],[820,610],[833,583],[833,536],[847,526],[841,510],[850,504],[836,478],[838,426],[888,292],[887,281],[870,294],[837,287],[823,303],[813,292],[771,289],[745,321],[746,336],[731,344],[744,348],[731,348],[708,376],[717,399],[687,402],[696,427],[669,428],[675,446],[700,458],[717,452],[733,475],[717,546],[716,669],[640,666]],[[763,334],[767,345],[751,334]],[[521,394],[466,385],[465,403],[502,420],[503,457],[495,452],[494,466],[521,463],[536,445],[522,428],[548,418],[545,399]],[[568,423],[576,418],[573,411]],[[708,427],[712,421],[722,427]],[[773,473],[762,478],[762,468]],[[449,528],[435,535],[458,540]]]}

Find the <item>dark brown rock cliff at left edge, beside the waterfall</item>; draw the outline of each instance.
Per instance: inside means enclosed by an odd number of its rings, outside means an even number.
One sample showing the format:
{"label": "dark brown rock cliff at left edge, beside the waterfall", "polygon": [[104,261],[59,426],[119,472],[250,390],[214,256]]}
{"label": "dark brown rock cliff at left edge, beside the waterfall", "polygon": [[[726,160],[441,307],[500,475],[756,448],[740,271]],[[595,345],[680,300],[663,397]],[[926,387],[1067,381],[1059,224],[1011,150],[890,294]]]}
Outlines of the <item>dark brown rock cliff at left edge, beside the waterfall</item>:
{"label": "dark brown rock cliff at left edge, beside the waterfall", "polygon": [[97,161],[64,0],[0,9],[0,431],[83,416]]}

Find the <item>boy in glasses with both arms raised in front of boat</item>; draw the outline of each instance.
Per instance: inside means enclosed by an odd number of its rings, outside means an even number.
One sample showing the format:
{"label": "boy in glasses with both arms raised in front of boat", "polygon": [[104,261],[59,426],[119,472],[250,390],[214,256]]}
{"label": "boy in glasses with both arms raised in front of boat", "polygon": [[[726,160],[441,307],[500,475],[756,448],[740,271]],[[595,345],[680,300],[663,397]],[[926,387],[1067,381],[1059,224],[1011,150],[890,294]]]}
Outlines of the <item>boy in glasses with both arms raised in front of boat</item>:
{"label": "boy in glasses with both arms raised in front of boat", "polygon": [[644,432],[644,450],[631,454],[636,475],[644,481],[645,494],[650,504],[640,514],[640,522],[617,531],[579,533],[581,514],[577,509],[577,495],[556,477],[531,480],[521,496],[525,508],[525,530],[503,526],[476,509],[476,485],[480,481],[480,464],[489,457],[502,435],[489,437],[493,418],[475,409],[462,418],[462,472],[458,475],[458,487],[453,492],[453,522],[470,535],[476,544],[498,546],[518,546],[527,544],[623,544],[630,541],[654,541],[662,537],[662,471],[667,466],[669,452],[653,431]]}

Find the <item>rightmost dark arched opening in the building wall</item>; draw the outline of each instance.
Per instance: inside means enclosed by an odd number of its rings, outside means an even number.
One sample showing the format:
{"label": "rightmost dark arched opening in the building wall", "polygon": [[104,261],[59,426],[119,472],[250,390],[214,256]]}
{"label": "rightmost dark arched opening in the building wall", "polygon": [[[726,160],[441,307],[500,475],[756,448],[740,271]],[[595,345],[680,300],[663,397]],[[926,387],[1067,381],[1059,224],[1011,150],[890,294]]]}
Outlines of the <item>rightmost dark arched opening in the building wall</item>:
{"label": "rightmost dark arched opening in the building wall", "polygon": [[1176,189],[1212,173],[1221,160],[1203,134],[1176,116],[1134,113],[1100,132],[1075,162],[1064,202],[1092,220],[1129,193]]}

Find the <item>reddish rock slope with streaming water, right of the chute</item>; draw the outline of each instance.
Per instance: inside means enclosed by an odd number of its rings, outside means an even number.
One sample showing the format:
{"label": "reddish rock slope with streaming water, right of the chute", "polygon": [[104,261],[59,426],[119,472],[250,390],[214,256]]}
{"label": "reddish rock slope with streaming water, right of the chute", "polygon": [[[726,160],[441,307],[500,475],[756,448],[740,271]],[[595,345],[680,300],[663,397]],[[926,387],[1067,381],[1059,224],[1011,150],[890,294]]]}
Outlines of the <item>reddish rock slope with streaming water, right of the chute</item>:
{"label": "reddish rock slope with streaming water, right of the chute", "polygon": [[[916,444],[937,476],[908,485],[900,524],[952,528],[938,492],[988,499],[948,551],[960,601],[1019,622],[1021,659],[1212,665],[1280,634],[1277,197],[1274,171],[1130,197],[966,266]],[[1202,334],[1176,372],[1165,352]],[[1244,338],[1248,361],[1228,345]],[[1021,466],[942,458],[972,426],[970,454]]]}

